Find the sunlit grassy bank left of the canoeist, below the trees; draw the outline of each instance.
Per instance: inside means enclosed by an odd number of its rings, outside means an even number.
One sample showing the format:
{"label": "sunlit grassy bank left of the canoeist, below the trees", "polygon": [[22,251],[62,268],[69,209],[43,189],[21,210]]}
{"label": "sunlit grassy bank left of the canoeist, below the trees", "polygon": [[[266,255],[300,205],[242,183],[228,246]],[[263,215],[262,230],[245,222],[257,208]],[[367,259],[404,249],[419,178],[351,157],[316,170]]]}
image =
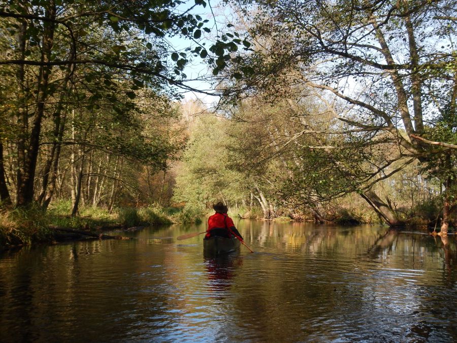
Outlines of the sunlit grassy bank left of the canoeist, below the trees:
{"label": "sunlit grassy bank left of the canoeist, below the trees", "polygon": [[[56,228],[88,233],[102,233],[113,228],[159,226],[172,223],[198,223],[201,211],[192,208],[119,207],[113,212],[100,207],[82,207],[77,216],[71,216],[71,202],[51,204],[47,211],[35,206],[28,209],[0,211],[0,250],[10,246],[38,242],[54,242],[63,235]],[[71,237],[67,234],[66,237]],[[76,239],[76,235],[74,236]]]}

